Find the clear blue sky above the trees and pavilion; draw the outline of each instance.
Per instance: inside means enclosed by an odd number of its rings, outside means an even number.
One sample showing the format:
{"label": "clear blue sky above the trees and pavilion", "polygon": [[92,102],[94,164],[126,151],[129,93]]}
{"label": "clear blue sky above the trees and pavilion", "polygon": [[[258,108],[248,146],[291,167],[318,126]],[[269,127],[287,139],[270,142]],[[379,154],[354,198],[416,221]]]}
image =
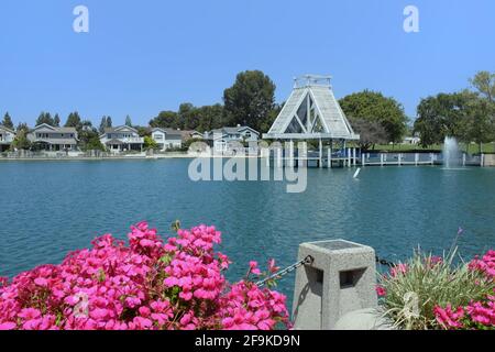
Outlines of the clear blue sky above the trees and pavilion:
{"label": "clear blue sky above the trees and pavilion", "polygon": [[[89,9],[89,33],[73,10]],[[419,9],[405,33],[403,10]],[[146,124],[180,102],[221,102],[237,73],[261,69],[287,98],[294,76],[333,76],[338,97],[373,89],[408,116],[420,98],[495,72],[493,0],[1,0],[0,113],[34,123],[70,111]]]}

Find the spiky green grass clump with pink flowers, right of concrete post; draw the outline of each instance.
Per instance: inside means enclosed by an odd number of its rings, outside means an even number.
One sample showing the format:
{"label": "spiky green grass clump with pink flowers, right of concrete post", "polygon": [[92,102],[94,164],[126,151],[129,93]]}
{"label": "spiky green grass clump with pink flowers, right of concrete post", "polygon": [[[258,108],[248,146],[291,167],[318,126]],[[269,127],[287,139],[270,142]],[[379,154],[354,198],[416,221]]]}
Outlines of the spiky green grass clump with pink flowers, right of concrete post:
{"label": "spiky green grass clump with pink flowers, right of concrete post", "polygon": [[386,315],[403,329],[495,329],[495,251],[465,265],[416,253],[376,288]]}

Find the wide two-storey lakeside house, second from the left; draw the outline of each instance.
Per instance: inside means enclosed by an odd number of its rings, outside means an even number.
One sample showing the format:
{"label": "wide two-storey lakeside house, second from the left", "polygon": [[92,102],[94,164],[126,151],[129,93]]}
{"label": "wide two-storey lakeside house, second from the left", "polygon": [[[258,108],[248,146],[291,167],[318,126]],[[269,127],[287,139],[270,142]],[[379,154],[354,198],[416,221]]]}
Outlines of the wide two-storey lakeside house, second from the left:
{"label": "wide two-storey lakeside house, second from the left", "polygon": [[28,140],[35,148],[44,151],[76,151],[77,131],[75,128],[56,128],[46,123],[36,125],[28,133]]}

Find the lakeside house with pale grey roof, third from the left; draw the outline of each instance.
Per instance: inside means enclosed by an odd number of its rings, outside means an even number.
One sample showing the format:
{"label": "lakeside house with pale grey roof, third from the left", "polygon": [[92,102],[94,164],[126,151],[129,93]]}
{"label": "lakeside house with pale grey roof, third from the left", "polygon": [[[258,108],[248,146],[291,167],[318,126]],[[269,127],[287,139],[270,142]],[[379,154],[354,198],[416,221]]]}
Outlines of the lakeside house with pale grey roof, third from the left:
{"label": "lakeside house with pale grey roof, third from the left", "polygon": [[144,138],[138,130],[129,125],[105,129],[100,135],[100,142],[112,153],[143,151]]}

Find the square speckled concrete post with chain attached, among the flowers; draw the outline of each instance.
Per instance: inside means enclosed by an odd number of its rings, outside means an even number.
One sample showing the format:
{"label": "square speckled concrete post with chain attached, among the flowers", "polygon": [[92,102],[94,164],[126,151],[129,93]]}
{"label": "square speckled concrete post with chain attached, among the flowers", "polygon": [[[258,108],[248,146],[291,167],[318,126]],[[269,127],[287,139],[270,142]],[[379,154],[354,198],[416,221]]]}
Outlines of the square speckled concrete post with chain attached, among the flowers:
{"label": "square speckled concrete post with chain attached, among the flowers", "polygon": [[377,307],[372,248],[344,240],[300,244],[298,258],[308,255],[314,258],[312,264],[296,272],[296,330],[331,330],[342,316]]}

